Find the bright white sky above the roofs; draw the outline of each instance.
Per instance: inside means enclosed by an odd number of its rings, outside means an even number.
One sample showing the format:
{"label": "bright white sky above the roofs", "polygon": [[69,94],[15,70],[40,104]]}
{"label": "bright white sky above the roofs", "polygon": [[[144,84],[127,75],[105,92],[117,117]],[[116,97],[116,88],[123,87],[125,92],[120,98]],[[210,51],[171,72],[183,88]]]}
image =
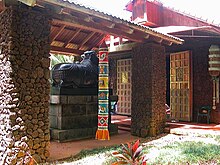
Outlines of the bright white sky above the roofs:
{"label": "bright white sky above the roofs", "polygon": [[[125,11],[130,0],[71,0],[103,11],[105,13],[129,19],[131,13]],[[164,6],[220,24],[220,0],[160,0]]]}

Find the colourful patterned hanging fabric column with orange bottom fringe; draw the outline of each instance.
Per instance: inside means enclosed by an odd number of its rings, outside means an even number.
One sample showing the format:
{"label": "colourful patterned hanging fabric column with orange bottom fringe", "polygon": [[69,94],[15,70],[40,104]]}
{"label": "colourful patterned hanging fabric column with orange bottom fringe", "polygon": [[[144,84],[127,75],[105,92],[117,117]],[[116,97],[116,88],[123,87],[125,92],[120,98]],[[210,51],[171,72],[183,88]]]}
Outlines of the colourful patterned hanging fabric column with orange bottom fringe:
{"label": "colourful patterned hanging fabric column with orange bottom fringe", "polygon": [[110,140],[108,130],[109,86],[108,47],[103,42],[99,48],[98,129],[96,139]]}

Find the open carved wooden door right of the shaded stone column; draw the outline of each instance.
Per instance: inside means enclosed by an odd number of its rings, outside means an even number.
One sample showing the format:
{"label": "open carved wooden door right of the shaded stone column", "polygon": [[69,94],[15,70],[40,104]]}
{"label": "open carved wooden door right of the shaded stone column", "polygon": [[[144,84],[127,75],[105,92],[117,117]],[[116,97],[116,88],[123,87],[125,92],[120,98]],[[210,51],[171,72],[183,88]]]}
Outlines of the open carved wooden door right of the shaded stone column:
{"label": "open carved wooden door right of the shaded stone column", "polygon": [[192,63],[190,51],[170,54],[171,119],[192,120]]}

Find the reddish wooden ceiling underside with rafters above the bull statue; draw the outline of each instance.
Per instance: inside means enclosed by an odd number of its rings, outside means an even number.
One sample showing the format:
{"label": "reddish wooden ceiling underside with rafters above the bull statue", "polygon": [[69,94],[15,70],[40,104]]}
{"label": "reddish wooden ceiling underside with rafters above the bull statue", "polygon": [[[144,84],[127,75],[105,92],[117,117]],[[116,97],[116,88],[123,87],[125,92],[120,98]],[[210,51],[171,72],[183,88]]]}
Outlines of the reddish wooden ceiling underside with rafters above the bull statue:
{"label": "reddish wooden ceiling underside with rafters above the bull statue", "polygon": [[103,33],[77,28],[60,21],[51,22],[51,52],[80,55],[101,44]]}

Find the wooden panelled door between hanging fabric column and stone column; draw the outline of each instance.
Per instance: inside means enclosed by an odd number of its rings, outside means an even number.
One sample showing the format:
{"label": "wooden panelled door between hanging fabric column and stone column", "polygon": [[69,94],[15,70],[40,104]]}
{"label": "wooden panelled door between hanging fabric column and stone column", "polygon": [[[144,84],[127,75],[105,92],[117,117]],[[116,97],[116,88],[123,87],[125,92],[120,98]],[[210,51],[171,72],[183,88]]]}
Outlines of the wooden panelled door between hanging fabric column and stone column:
{"label": "wooden panelled door between hanging fabric column and stone column", "polygon": [[117,113],[131,115],[131,59],[117,61]]}

